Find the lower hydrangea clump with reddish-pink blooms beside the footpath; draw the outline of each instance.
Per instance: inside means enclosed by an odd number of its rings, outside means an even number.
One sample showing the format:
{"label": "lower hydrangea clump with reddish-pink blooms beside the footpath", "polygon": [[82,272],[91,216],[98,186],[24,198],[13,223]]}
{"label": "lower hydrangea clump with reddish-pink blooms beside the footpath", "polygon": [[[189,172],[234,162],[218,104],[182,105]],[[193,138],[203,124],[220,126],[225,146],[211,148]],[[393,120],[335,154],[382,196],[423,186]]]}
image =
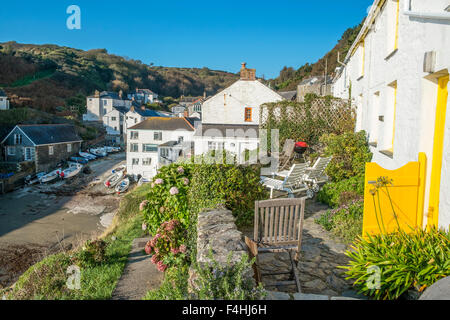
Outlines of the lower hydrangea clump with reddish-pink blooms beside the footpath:
{"label": "lower hydrangea clump with reddish-pink blooms beside the footpath", "polygon": [[159,271],[186,263],[189,259],[185,245],[187,232],[180,221],[163,222],[156,235],[145,245],[145,252],[152,254],[151,262]]}

